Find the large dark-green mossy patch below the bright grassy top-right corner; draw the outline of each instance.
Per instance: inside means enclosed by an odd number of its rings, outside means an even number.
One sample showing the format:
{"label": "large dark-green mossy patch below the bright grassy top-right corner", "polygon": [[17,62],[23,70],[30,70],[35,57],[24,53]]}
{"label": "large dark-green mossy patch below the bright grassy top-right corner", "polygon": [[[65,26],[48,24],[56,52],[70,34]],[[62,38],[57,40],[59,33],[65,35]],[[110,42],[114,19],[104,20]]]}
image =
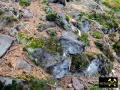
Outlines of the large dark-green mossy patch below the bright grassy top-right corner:
{"label": "large dark-green mossy patch below the bright grassy top-right corner", "polygon": [[82,13],[81,17],[85,16],[90,21],[97,21],[103,29],[111,29],[114,27],[118,27],[118,21],[112,12],[106,12],[104,14],[99,13]]}

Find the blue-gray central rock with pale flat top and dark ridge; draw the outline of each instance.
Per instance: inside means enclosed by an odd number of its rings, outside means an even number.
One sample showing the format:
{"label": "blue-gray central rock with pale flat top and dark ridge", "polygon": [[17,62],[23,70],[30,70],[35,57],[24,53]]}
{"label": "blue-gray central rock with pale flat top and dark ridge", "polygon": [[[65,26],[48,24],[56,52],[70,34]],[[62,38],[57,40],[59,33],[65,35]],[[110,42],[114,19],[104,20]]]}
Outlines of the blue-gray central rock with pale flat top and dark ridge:
{"label": "blue-gray central rock with pale flat top and dark ridge", "polygon": [[77,40],[77,36],[72,32],[63,32],[60,43],[64,52],[68,54],[80,54],[84,51],[84,44]]}

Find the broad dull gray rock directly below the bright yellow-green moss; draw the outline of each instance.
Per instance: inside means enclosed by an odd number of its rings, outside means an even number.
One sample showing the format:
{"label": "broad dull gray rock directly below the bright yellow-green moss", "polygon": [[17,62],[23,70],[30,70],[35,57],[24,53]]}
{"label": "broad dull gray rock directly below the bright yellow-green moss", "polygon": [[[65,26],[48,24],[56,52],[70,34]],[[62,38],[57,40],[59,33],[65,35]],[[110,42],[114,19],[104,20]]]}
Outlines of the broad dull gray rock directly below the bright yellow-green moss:
{"label": "broad dull gray rock directly below the bright yellow-green moss", "polygon": [[45,69],[57,64],[58,62],[61,62],[60,55],[50,54],[42,48],[36,48],[33,51],[28,49],[28,52],[31,54],[35,62]]}

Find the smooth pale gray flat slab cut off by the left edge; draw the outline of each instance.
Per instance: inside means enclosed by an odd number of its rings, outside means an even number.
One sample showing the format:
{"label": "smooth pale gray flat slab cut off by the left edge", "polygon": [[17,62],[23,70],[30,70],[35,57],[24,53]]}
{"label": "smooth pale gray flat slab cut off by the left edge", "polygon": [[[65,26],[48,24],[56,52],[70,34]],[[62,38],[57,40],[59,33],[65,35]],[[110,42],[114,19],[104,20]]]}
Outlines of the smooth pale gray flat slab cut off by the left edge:
{"label": "smooth pale gray flat slab cut off by the left edge", "polygon": [[13,42],[12,37],[0,34],[0,57],[2,57]]}

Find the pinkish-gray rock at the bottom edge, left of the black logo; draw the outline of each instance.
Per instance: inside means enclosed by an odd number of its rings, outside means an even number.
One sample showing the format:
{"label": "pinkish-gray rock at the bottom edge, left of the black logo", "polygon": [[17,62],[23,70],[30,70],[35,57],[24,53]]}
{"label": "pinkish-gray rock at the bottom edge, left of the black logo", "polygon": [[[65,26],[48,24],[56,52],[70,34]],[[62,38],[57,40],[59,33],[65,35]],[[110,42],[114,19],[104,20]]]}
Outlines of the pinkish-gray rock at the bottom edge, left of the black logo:
{"label": "pinkish-gray rock at the bottom edge, left of the black logo", "polygon": [[84,85],[76,77],[72,78],[72,83],[75,90],[84,90]]}

